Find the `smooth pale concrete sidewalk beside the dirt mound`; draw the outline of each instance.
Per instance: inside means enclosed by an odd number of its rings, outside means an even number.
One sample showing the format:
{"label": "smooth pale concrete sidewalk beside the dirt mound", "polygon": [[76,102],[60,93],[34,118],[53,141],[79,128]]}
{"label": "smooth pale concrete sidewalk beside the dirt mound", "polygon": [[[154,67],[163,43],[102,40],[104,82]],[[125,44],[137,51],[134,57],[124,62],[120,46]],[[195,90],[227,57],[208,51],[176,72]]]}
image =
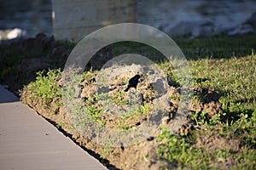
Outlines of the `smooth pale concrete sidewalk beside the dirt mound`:
{"label": "smooth pale concrete sidewalk beside the dirt mound", "polygon": [[107,169],[0,86],[0,169]]}

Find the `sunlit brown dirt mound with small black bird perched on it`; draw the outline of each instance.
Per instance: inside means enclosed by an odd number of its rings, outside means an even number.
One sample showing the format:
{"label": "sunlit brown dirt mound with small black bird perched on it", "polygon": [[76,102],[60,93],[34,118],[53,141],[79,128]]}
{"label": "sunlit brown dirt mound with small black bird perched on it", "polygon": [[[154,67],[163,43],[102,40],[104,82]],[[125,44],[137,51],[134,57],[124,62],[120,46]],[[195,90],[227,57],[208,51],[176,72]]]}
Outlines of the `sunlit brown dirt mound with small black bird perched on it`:
{"label": "sunlit brown dirt mound with small black bird perched on it", "polygon": [[[140,127],[144,122],[147,122],[148,116],[153,114],[152,108],[157,105],[157,102],[163,103],[160,108],[167,113],[166,119],[161,117],[163,118],[161,121],[167,121],[161,123],[172,124],[172,116],[177,111],[180,89],[168,86],[165,73],[151,74],[152,72],[152,69],[141,65],[114,65],[100,72],[92,73],[88,71],[84,76],[84,80],[78,86],[79,94],[75,93],[74,95],[83,101],[83,105],[87,109],[95,111],[95,114],[91,116],[95,118],[96,122],[111,129],[120,130]],[[125,92],[127,83],[135,75],[141,75],[137,88],[130,88]],[[63,79],[56,81],[58,86],[63,87]],[[194,103],[195,108],[199,109],[193,110],[192,108],[192,113],[193,111],[212,111],[208,110],[209,105],[212,108],[218,108],[215,105],[218,103],[218,94],[215,90],[195,88],[195,92],[201,99],[205,100],[199,100],[199,103]],[[63,105],[58,105],[57,99],[52,99],[48,105],[42,105],[44,100],[40,98],[38,100],[34,99],[31,93],[32,90],[28,86],[21,94],[22,101],[30,105],[35,111],[38,111],[40,115],[48,118],[51,122],[55,122],[55,125],[61,131],[65,131],[77,144],[86,148],[86,150],[93,150],[93,155],[102,160],[110,169],[117,167],[121,169],[172,167],[168,161],[162,160],[156,155],[159,147],[156,140],[160,130],[152,132],[147,139],[129,147],[122,144],[119,144],[118,147],[96,144],[95,141],[86,137],[84,131],[81,132],[81,129],[73,127],[73,122],[70,121],[72,119],[67,114],[67,108],[65,109]],[[99,94],[102,94],[102,98]],[[106,94],[108,94],[107,99],[104,98]],[[162,102],[161,96],[164,95],[167,96],[165,99],[170,100]],[[131,104],[136,105],[139,109],[129,115],[127,110],[131,109]],[[218,111],[218,109],[214,109],[209,112],[211,113],[209,115],[213,116]],[[193,122],[187,122],[180,128],[180,132],[188,134],[192,128]],[[204,143],[203,139],[198,139],[198,141],[201,141],[201,144]],[[200,147],[200,142],[198,147]],[[102,158],[108,158],[108,161]]]}

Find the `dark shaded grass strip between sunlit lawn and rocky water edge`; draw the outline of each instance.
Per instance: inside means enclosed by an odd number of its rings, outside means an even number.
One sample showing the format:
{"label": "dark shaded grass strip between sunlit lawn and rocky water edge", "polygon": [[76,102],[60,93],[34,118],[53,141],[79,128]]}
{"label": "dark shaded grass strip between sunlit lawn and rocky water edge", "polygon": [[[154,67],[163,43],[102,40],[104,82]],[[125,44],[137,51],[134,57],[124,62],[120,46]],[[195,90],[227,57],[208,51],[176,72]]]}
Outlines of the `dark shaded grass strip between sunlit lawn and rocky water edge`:
{"label": "dark shaded grass strip between sunlit lawn and rocky water edge", "polygon": [[174,39],[187,59],[223,59],[243,57],[256,51],[255,35]]}

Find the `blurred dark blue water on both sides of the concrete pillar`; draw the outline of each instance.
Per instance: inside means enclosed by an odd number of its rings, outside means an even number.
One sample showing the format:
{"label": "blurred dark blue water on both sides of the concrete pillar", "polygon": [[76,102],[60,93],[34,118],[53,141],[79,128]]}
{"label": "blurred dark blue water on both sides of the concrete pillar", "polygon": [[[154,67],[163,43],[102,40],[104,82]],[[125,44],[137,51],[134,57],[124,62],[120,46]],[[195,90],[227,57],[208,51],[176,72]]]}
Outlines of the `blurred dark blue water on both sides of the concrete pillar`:
{"label": "blurred dark blue water on both sides of the concrete pillar", "polygon": [[[255,7],[255,0],[137,0],[137,21],[172,37],[233,36],[255,32]],[[0,0],[0,39],[52,35],[51,16],[50,0]]]}

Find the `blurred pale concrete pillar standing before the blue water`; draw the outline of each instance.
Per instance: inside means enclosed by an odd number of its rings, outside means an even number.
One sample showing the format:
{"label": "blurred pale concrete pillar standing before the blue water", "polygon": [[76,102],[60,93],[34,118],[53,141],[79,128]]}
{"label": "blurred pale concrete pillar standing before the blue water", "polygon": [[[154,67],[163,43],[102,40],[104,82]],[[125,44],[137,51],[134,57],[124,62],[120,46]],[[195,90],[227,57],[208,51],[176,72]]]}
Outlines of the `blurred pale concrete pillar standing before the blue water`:
{"label": "blurred pale concrete pillar standing before the blue water", "polygon": [[52,0],[55,39],[78,42],[103,26],[137,21],[136,0]]}

